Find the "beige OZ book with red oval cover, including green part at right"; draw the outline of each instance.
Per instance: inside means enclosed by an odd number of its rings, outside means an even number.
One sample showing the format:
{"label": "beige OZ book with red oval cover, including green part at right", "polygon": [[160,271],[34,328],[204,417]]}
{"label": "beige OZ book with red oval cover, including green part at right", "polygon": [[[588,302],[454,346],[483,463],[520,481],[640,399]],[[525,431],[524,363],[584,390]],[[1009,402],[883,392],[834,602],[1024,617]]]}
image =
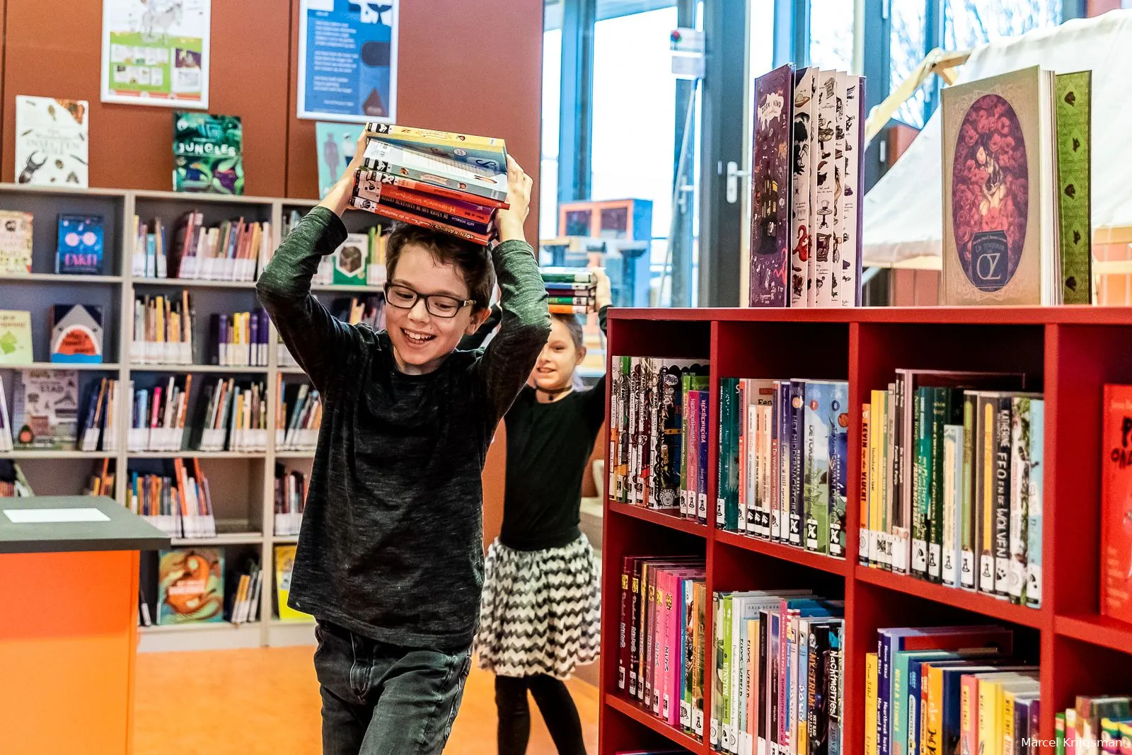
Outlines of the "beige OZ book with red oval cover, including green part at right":
{"label": "beige OZ book with red oval cover, including green part at right", "polygon": [[1091,302],[1090,95],[1038,66],[944,89],[941,303]]}

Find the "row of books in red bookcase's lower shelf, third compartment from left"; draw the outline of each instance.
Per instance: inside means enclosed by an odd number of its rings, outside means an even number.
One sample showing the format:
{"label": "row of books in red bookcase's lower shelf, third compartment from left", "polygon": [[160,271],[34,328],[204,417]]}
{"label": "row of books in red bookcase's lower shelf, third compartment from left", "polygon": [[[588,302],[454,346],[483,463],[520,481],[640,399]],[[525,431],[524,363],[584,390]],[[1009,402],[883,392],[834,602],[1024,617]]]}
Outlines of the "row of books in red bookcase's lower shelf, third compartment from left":
{"label": "row of books in red bookcase's lower shelf, third compartment from left", "polygon": [[866,678],[867,721],[875,722],[866,753],[1031,752],[1014,748],[1021,738],[1003,744],[1017,732],[1013,707],[1003,715],[1004,693],[1036,700],[1038,690],[1037,667],[1014,657],[1013,644],[1013,632],[998,626],[878,629]]}

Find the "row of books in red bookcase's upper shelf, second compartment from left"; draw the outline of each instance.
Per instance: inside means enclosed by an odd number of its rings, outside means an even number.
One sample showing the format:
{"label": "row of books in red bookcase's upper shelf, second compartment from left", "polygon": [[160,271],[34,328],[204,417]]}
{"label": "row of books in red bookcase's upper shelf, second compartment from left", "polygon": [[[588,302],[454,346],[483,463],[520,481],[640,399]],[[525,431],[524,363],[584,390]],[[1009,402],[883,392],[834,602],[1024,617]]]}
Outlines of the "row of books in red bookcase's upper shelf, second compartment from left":
{"label": "row of books in red bookcase's upper shelf, second compartment from left", "polygon": [[849,386],[722,378],[715,523],[844,558]]}

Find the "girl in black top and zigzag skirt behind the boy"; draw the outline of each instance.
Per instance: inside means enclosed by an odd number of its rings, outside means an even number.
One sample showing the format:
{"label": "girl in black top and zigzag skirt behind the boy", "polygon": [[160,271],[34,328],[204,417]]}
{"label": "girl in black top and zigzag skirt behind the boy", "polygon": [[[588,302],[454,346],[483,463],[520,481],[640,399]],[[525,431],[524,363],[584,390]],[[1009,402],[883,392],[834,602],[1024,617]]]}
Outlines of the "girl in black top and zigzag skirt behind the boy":
{"label": "girl in black top and zigzag skirt behind the boy", "polygon": [[[609,278],[598,271],[602,333]],[[490,331],[489,321],[474,337]],[[465,340],[466,345],[468,340]],[[598,657],[600,574],[578,529],[582,478],[606,418],[606,379],[575,389],[585,358],[573,315],[551,316],[528,386],[507,411],[503,529],[488,551],[477,650],[496,674],[500,755],[526,752],[530,689],[561,755],[584,755],[582,724],[564,679]]]}

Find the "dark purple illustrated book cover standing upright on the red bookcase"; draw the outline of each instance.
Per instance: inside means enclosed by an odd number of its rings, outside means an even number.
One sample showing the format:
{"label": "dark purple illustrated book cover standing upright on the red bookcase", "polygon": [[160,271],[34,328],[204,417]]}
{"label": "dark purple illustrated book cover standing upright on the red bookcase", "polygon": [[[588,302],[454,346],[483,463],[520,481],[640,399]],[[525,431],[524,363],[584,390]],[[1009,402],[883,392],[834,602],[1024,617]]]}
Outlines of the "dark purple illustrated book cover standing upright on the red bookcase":
{"label": "dark purple illustrated book cover standing upright on the red bookcase", "polygon": [[790,145],[794,66],[755,79],[755,144],[751,169],[752,307],[788,307],[790,289]]}

